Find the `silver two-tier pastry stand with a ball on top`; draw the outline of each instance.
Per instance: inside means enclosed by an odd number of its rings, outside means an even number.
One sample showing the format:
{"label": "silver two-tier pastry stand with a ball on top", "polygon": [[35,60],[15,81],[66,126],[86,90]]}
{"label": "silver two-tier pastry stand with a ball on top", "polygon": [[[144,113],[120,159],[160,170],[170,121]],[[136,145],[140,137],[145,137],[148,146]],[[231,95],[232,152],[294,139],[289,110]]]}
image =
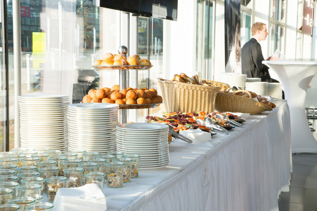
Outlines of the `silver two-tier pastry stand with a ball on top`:
{"label": "silver two-tier pastry stand with a ball on top", "polygon": [[[126,56],[128,53],[128,49],[125,46],[120,46],[118,49],[119,54],[123,54]],[[150,70],[153,65],[93,65],[92,66],[97,71],[119,71],[119,88],[120,90],[124,90],[127,88],[126,86],[126,76],[129,71],[132,70]],[[163,103],[163,102],[162,102]],[[151,109],[156,108],[161,103],[153,103],[153,104],[135,104],[135,105],[120,105],[119,106],[119,121],[120,124],[124,124],[127,122],[127,112],[126,109]]]}

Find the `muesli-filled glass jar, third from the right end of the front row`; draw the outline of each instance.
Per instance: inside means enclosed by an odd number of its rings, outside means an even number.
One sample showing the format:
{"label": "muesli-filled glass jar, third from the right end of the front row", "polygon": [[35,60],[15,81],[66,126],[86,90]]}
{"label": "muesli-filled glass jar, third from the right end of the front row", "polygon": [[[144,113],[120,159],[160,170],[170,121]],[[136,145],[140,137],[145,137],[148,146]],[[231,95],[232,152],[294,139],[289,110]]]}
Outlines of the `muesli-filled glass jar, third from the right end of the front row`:
{"label": "muesli-filled glass jar, third from the right end of the front row", "polygon": [[123,184],[123,168],[122,162],[106,163],[107,167],[107,186],[110,188],[120,188]]}

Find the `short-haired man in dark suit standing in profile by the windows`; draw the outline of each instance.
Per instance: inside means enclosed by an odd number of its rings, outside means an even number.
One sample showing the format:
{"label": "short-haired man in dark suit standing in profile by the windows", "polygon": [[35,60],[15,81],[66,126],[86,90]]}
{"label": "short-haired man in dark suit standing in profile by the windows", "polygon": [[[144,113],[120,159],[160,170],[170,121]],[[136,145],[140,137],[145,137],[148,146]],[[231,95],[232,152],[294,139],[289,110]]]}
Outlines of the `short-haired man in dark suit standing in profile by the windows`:
{"label": "short-haired man in dark suit standing in profile by the windows", "polygon": [[[251,32],[252,38],[241,49],[242,74],[246,74],[248,78],[261,78],[262,82],[279,83],[279,81],[270,77],[268,66],[262,64],[264,58],[260,41],[265,40],[268,35],[266,25],[256,22],[252,25]],[[268,59],[277,60],[276,57],[268,57]]]}

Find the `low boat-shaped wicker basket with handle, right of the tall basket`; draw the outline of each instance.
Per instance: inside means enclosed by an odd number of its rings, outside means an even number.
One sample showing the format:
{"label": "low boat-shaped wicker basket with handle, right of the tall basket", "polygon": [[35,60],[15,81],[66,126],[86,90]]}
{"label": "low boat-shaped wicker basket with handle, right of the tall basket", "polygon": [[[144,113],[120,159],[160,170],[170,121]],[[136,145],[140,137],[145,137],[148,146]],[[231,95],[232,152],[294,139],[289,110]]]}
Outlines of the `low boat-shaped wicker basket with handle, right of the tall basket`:
{"label": "low boat-shaped wicker basket with handle, right of the tall basket", "polygon": [[238,112],[250,115],[260,114],[264,111],[272,111],[272,108],[252,99],[251,94],[246,90],[236,92],[247,92],[250,98],[233,94],[218,92],[215,108],[219,112]]}

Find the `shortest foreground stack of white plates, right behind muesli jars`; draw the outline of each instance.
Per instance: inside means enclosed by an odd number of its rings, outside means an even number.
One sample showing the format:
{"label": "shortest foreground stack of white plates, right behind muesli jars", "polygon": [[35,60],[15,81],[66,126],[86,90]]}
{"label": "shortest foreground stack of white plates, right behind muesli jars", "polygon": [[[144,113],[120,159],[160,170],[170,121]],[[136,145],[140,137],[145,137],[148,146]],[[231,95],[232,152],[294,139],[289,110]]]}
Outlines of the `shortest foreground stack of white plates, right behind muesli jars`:
{"label": "shortest foreground stack of white plates, right behind muesli jars", "polygon": [[117,126],[117,151],[138,154],[140,168],[162,168],[169,164],[168,126],[158,123],[128,123]]}

